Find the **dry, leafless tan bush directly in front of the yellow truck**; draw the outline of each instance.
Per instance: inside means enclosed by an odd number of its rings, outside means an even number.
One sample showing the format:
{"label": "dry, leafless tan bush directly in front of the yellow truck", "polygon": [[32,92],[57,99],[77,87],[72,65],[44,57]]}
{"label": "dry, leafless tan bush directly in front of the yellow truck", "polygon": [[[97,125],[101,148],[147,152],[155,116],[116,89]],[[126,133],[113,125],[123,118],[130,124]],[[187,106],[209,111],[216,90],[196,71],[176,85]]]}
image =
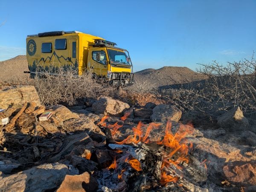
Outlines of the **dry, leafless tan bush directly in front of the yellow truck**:
{"label": "dry, leafless tan bush directly in front of the yellow truck", "polygon": [[101,95],[111,95],[113,88],[99,78],[93,78],[92,71],[78,76],[77,70],[59,68],[51,73],[51,69],[44,71],[43,75],[36,73],[29,83],[35,86],[43,105],[66,104],[75,105],[84,98],[96,99]]}

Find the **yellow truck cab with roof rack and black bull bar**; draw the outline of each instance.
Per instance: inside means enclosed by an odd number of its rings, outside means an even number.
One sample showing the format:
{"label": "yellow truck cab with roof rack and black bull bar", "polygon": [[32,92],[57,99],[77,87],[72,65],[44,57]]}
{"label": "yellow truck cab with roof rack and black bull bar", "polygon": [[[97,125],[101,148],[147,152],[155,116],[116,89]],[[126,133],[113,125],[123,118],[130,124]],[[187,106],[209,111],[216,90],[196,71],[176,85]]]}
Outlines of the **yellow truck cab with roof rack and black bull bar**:
{"label": "yellow truck cab with roof rack and black bull bar", "polygon": [[133,84],[134,75],[129,52],[114,47],[116,43],[97,39],[89,49],[87,69],[107,77],[116,86]]}

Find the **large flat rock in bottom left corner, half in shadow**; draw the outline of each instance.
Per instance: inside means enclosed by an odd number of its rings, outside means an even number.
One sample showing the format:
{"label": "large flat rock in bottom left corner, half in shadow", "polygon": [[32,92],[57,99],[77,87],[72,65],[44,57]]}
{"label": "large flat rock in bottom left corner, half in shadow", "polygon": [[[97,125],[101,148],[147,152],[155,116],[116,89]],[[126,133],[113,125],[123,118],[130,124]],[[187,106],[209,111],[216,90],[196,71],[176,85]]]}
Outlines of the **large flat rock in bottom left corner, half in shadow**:
{"label": "large flat rock in bottom left corner, half in shadow", "polygon": [[0,177],[0,191],[42,192],[56,189],[71,174],[67,165],[43,164],[6,177]]}

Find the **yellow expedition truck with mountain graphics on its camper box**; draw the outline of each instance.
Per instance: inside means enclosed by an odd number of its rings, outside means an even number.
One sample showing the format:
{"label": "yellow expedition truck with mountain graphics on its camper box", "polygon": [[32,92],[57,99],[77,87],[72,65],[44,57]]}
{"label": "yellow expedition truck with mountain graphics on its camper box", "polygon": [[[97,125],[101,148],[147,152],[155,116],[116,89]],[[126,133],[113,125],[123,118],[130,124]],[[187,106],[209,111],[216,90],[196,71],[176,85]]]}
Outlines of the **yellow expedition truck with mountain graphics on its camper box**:
{"label": "yellow expedition truck with mountain graphics on its camper box", "polygon": [[[31,77],[36,73],[54,72],[60,67],[76,69],[77,75],[87,70],[106,77],[115,86],[134,83],[132,63],[125,49],[116,43],[82,32],[57,31],[28,35],[26,58]],[[50,69],[50,70],[49,70]]]}

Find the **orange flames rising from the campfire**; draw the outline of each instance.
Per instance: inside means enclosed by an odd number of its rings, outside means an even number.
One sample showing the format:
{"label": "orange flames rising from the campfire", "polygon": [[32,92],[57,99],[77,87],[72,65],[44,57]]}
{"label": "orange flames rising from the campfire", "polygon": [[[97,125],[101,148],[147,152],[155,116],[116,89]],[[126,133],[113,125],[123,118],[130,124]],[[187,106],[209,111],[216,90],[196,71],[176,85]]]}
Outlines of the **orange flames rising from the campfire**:
{"label": "orange flames rising from the campfire", "polygon": [[[105,116],[102,118],[99,124],[110,129],[111,134],[114,138],[114,135],[116,135],[119,132],[119,129],[123,126],[124,120],[128,117],[128,115],[128,113],[125,114],[124,117],[121,117],[121,121],[116,122],[114,124],[105,123],[105,120],[108,118]],[[184,138],[193,130],[188,130],[186,129],[186,125],[182,126],[181,124],[179,129],[176,130],[175,134],[173,134],[172,122],[167,122],[164,135],[162,137],[159,137],[157,140],[151,140],[151,131],[159,129],[160,126],[162,126],[161,123],[149,123],[148,125],[145,125],[142,122],[139,122],[136,127],[132,128],[133,135],[128,135],[125,139],[121,141],[116,141],[116,144],[123,145],[132,143],[137,147],[143,144],[144,146],[148,145],[148,147],[151,149],[152,146],[154,146],[155,152],[161,155],[162,162],[159,169],[160,172],[158,174],[160,176],[160,179],[158,181],[162,186],[166,186],[169,182],[176,183],[178,181],[178,178],[181,177],[180,175],[182,175],[181,172],[177,174],[177,170],[183,169],[183,164],[186,164],[187,166],[187,164],[189,163],[189,158],[187,156],[189,151],[192,150],[192,143],[186,143],[186,139]],[[116,149],[116,152],[120,151],[120,149]],[[139,161],[140,159],[138,160],[136,158],[136,155],[129,154],[128,151],[126,151],[125,154],[133,156],[132,158],[125,159],[125,162],[130,164],[130,166],[137,172],[142,171],[143,167],[147,168],[147,165],[141,164],[141,162]],[[169,167],[171,166],[175,167],[175,169],[171,169],[172,171],[170,172]],[[116,160],[113,160],[113,163],[109,168],[117,168]],[[124,168],[119,170],[118,179],[122,178],[124,172]]]}

